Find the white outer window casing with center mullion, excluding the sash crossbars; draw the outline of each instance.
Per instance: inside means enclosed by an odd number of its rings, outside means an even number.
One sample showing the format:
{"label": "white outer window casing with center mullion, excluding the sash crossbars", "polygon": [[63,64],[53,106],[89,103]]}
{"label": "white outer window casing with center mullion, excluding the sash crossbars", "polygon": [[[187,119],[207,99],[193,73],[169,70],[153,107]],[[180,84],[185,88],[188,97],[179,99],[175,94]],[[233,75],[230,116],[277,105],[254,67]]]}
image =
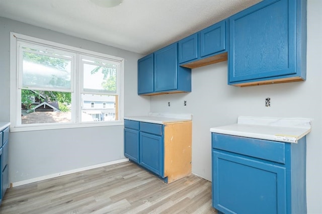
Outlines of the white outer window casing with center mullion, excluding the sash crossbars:
{"label": "white outer window casing with center mullion, excluding the sash crossbars", "polygon": [[[38,45],[44,45],[47,47],[51,47],[54,49],[59,49],[62,51],[68,51],[71,53],[75,53],[76,61],[81,63],[79,59],[81,59],[82,55],[93,56],[96,58],[107,59],[111,61],[115,61],[119,64],[118,68],[118,76],[117,76],[117,95],[118,95],[118,121],[104,121],[104,122],[81,122],[81,82],[82,77],[80,75],[76,75],[75,73],[72,75],[74,85],[72,85],[74,90],[74,96],[72,96],[72,122],[71,123],[50,123],[50,124],[24,124],[21,125],[18,123],[20,112],[21,102],[21,94],[18,93],[18,42],[25,41],[28,43],[34,43]],[[66,128],[81,128],[81,127],[96,127],[96,126],[122,126],[124,125],[124,58],[116,57],[108,54],[98,53],[90,50],[85,50],[82,48],[76,48],[68,45],[59,44],[56,42],[51,42],[35,37],[30,37],[18,33],[11,32],[10,34],[10,121],[11,121],[11,132],[22,132],[22,131],[36,131],[36,130],[50,130],[50,129],[66,129]],[[78,72],[78,71],[76,71]],[[82,72],[78,72],[82,73]],[[78,108],[76,108],[79,106]],[[73,119],[74,118],[74,119]]]}

